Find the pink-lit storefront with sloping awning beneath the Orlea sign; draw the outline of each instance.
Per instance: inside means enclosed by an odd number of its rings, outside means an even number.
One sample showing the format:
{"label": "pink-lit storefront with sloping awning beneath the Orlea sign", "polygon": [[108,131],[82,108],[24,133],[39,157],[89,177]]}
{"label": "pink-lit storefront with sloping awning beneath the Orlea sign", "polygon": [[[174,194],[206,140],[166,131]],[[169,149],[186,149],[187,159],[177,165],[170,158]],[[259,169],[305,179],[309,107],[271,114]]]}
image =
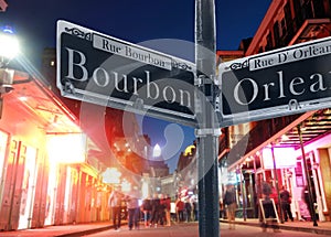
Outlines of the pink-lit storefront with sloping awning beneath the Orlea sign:
{"label": "pink-lit storefront with sloping awning beneath the Orlea sign", "polygon": [[[331,122],[329,115],[329,109],[307,112],[290,119],[291,122],[285,122],[287,126],[282,126],[282,122],[276,119],[270,120],[271,123],[267,126],[270,128],[270,137],[259,144],[255,143],[250,148],[247,146],[236,162],[228,163],[227,173],[236,174],[235,180],[238,180],[237,216],[257,217],[257,212],[250,215],[249,208],[254,209],[257,198],[261,197],[260,183],[267,181],[278,192],[282,186],[290,192],[292,214],[296,219],[300,220],[312,218],[309,212],[310,203],[305,202],[303,197],[305,188],[310,185],[312,215],[314,214],[316,219],[320,222],[330,220],[331,137],[329,131]],[[260,130],[261,128],[255,127],[254,129]],[[250,131],[249,136],[250,138],[246,140],[252,143],[255,140],[254,131]],[[221,163],[225,160],[234,161],[234,153],[238,153],[236,151],[234,147],[228,152],[227,159],[221,159]],[[226,182],[229,176],[225,177]]]}

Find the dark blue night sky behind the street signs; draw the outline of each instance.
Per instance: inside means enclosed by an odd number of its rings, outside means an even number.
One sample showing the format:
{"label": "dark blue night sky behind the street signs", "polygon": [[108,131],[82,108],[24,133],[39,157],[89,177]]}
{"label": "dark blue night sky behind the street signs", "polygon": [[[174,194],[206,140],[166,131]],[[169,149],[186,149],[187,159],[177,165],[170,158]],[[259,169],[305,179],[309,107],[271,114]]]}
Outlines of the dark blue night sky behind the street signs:
{"label": "dark blue night sky behind the street signs", "polygon": [[[255,34],[270,2],[271,0],[215,0],[216,49],[237,50],[242,39]],[[8,0],[8,4],[7,11],[0,13],[0,25],[14,28],[23,54],[36,68],[42,50],[56,45],[57,20],[66,20],[131,43],[159,39],[194,42],[194,0]],[[158,49],[158,44],[153,46],[154,50],[186,60],[194,53],[186,50],[185,55],[181,55],[183,52],[179,53],[177,49]],[[150,134],[152,142],[164,146],[167,139],[162,133],[169,123],[149,119],[147,125],[143,130]],[[181,128],[184,148],[195,139],[194,130]],[[169,163],[177,164],[177,160],[172,159]]]}

